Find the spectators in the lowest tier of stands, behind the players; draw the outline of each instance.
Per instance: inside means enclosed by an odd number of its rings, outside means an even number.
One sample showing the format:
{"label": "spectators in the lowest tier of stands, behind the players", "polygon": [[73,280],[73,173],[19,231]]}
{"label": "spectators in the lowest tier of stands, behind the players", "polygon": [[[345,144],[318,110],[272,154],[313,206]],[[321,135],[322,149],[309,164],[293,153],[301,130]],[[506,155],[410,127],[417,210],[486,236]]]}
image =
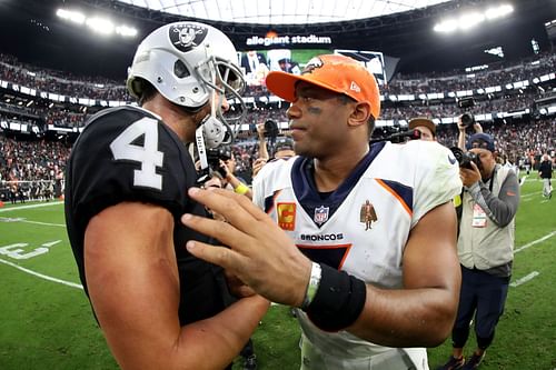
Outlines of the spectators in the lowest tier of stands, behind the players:
{"label": "spectators in the lowest tier of stands, behind the players", "polygon": [[[554,120],[536,122],[509,122],[484,124],[485,132],[497,138],[496,147],[502,163],[518,166],[522,170],[536,169],[542,156],[556,159],[556,130]],[[450,148],[457,143],[456,124],[441,124],[438,142]],[[387,136],[387,134],[386,134]],[[251,179],[252,162],[259,157],[256,133],[245,132],[232,148],[236,170]],[[70,149],[66,142],[42,140],[16,140],[0,132],[0,181],[56,180],[63,172]]]}

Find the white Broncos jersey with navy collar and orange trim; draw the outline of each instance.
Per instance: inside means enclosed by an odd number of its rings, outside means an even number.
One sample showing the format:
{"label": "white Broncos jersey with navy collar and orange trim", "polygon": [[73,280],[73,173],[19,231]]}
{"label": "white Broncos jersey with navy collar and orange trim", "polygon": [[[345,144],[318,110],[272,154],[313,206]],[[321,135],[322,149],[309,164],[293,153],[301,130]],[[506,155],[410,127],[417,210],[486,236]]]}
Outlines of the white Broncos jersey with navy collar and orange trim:
{"label": "white Broncos jersey with navy collar and orange trim", "polygon": [[[317,191],[312,172],[312,160],[302,157],[269,163],[255,179],[254,201],[312,261],[387,289],[403,287],[411,228],[461,189],[449,150],[421,140],[371,146],[331,193]],[[320,353],[353,359],[391,350],[346,331],[321,331],[298,311],[304,334]]]}

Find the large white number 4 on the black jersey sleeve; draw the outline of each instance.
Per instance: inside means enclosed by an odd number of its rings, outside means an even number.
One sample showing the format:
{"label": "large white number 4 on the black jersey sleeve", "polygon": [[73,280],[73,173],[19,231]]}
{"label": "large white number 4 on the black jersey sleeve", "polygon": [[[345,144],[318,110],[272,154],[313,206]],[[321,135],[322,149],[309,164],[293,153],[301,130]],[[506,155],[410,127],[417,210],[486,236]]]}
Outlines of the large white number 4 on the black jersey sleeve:
{"label": "large white number 4 on the black jersey sleeve", "polygon": [[[142,147],[132,142],[145,136]],[[110,144],[116,160],[128,160],[141,163],[140,170],[133,171],[133,186],[162,190],[162,176],[157,167],[162,167],[165,154],[158,150],[158,123],[152,118],[141,118],[128,127]]]}

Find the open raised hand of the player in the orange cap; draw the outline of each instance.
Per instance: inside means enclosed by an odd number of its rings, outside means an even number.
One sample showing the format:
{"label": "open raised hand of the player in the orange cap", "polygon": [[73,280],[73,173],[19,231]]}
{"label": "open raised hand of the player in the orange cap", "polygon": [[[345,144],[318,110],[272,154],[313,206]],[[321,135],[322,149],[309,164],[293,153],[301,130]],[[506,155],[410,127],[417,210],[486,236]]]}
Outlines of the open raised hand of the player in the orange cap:
{"label": "open raised hand of the player in the orange cap", "polygon": [[183,224],[230,247],[190,240],[187,249],[191,254],[221,266],[274,302],[301,306],[311,262],[268,214],[231,191],[190,188],[188,194],[228,222],[183,214]]}

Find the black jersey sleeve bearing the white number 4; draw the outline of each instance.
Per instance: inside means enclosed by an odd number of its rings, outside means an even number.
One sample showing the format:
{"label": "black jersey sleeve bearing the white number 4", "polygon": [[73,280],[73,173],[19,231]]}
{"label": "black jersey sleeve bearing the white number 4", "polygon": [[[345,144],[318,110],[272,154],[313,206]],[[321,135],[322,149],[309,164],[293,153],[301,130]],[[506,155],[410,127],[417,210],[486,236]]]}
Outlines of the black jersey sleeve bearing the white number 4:
{"label": "black jersey sleeve bearing the white number 4", "polygon": [[156,203],[179,217],[195,168],[178,137],[156,117],[121,109],[83,130],[70,160],[76,214],[88,220],[122,201]]}

